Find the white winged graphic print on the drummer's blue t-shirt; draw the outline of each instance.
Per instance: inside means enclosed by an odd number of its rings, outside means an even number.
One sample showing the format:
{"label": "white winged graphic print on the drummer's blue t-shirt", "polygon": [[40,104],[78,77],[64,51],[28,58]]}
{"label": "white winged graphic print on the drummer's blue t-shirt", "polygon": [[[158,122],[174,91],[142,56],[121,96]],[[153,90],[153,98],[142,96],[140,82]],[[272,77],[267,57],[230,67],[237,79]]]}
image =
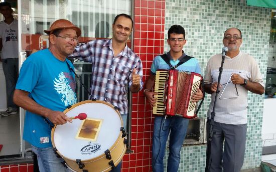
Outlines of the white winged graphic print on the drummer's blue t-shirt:
{"label": "white winged graphic print on the drummer's blue t-shirt", "polygon": [[64,106],[73,105],[77,102],[76,95],[70,86],[70,82],[73,82],[72,79],[67,78],[63,72],[60,72],[59,78],[55,78],[54,81],[54,88],[58,94],[62,95],[61,101],[64,102]]}

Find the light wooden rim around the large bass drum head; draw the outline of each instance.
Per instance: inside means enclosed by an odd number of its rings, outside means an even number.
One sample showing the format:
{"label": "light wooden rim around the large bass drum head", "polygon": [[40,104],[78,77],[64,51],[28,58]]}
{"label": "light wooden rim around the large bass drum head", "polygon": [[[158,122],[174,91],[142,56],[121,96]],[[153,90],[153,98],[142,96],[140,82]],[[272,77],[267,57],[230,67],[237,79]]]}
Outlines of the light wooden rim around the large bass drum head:
{"label": "light wooden rim around the large bass drum head", "polygon": [[[120,117],[120,120],[121,120],[121,127],[123,126],[123,121],[122,121],[120,112],[119,112],[117,109],[114,108],[115,106],[113,106],[113,105],[111,105],[110,103],[107,103],[107,102],[105,102],[105,101],[101,101],[101,100],[85,100],[85,101],[80,101],[80,102],[78,102],[78,103],[76,103],[76,104],[73,104],[70,108],[66,108],[66,109],[63,111],[63,113],[66,114],[66,113],[67,113],[68,111],[70,111],[71,109],[73,109],[73,108],[75,108],[75,107],[77,107],[77,106],[79,106],[79,105],[86,104],[86,103],[103,103],[103,104],[106,104],[106,105],[112,107],[112,108],[117,112],[118,116]],[[57,125],[55,124],[54,127],[53,127],[52,130],[51,130],[51,142],[52,142],[53,148],[56,148],[55,141],[54,141],[54,131],[55,131],[55,129],[56,129],[56,126],[57,126]],[[109,150],[110,150],[110,151],[113,150],[113,149],[119,144],[119,142],[120,142],[121,139],[123,139],[123,138],[122,138],[122,132],[120,132],[118,138],[117,138],[116,141],[112,144],[112,146],[109,148]],[[76,159],[71,159],[71,158],[69,158],[69,157],[66,157],[66,156],[62,155],[58,150],[57,150],[56,152],[57,152],[63,159],[68,159],[68,160],[76,161]],[[100,154],[100,155],[98,155],[98,156],[96,156],[96,157],[90,158],[90,159],[82,160],[82,162],[83,162],[83,163],[88,163],[88,162],[92,162],[92,161],[95,161],[95,160],[97,160],[97,159],[100,159],[100,158],[102,158],[102,157],[105,157],[105,154],[104,154],[104,153],[102,153],[102,154]]]}

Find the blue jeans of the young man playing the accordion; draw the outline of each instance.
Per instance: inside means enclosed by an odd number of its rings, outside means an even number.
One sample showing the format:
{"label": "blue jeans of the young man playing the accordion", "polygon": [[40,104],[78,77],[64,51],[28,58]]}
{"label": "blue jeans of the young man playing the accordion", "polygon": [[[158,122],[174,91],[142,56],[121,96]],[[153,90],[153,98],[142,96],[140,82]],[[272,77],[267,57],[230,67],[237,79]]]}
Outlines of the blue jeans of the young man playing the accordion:
{"label": "blue jeans of the young man playing the accordion", "polygon": [[187,132],[189,120],[179,116],[156,116],[154,120],[152,168],[154,172],[164,171],[166,142],[170,134],[168,172],[178,171],[180,150]]}

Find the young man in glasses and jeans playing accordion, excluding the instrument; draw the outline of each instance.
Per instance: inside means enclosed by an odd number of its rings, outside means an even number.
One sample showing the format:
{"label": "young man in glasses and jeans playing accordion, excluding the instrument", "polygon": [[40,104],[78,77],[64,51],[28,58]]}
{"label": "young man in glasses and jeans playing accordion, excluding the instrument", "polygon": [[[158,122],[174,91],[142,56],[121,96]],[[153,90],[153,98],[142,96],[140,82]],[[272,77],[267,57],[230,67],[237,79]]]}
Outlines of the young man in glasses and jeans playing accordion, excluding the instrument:
{"label": "young man in glasses and jeans playing accordion, excluding the instrument", "polygon": [[[167,43],[170,46],[170,51],[167,54],[155,57],[151,67],[151,74],[146,82],[144,93],[151,106],[155,106],[159,103],[156,98],[158,97],[157,90],[155,90],[155,92],[151,91],[157,77],[157,70],[176,69],[179,71],[201,73],[197,59],[187,56],[182,50],[183,46],[186,44],[185,30],[183,27],[179,25],[173,25],[168,31]],[[174,84],[176,83],[172,82],[171,85]],[[183,85],[182,87],[185,86]],[[202,98],[203,93],[199,88],[197,88],[195,93],[191,95],[192,102],[197,102]],[[167,168],[168,171],[178,171],[180,163],[180,150],[186,135],[189,119],[178,115],[165,116],[166,115],[155,116],[152,168],[153,171],[164,171],[163,158],[165,154],[167,138],[169,132],[171,131],[169,143],[170,153]]]}

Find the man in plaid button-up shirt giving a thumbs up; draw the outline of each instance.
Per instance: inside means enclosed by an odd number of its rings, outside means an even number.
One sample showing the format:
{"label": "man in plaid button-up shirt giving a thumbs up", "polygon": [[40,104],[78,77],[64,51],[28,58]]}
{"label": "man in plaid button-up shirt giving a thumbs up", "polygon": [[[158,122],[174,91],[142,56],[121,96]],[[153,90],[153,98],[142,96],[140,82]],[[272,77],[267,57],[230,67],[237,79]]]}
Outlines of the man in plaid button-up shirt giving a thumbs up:
{"label": "man in plaid button-up shirt giving a thumbs up", "polygon": [[[90,41],[76,47],[72,54],[74,58],[92,63],[90,93],[93,97],[90,99],[95,98],[117,106],[124,128],[127,119],[126,85],[128,83],[132,93],[139,92],[143,87],[141,59],[126,45],[132,27],[130,16],[117,15],[112,25],[112,39]],[[116,167],[118,171],[120,165]]]}

